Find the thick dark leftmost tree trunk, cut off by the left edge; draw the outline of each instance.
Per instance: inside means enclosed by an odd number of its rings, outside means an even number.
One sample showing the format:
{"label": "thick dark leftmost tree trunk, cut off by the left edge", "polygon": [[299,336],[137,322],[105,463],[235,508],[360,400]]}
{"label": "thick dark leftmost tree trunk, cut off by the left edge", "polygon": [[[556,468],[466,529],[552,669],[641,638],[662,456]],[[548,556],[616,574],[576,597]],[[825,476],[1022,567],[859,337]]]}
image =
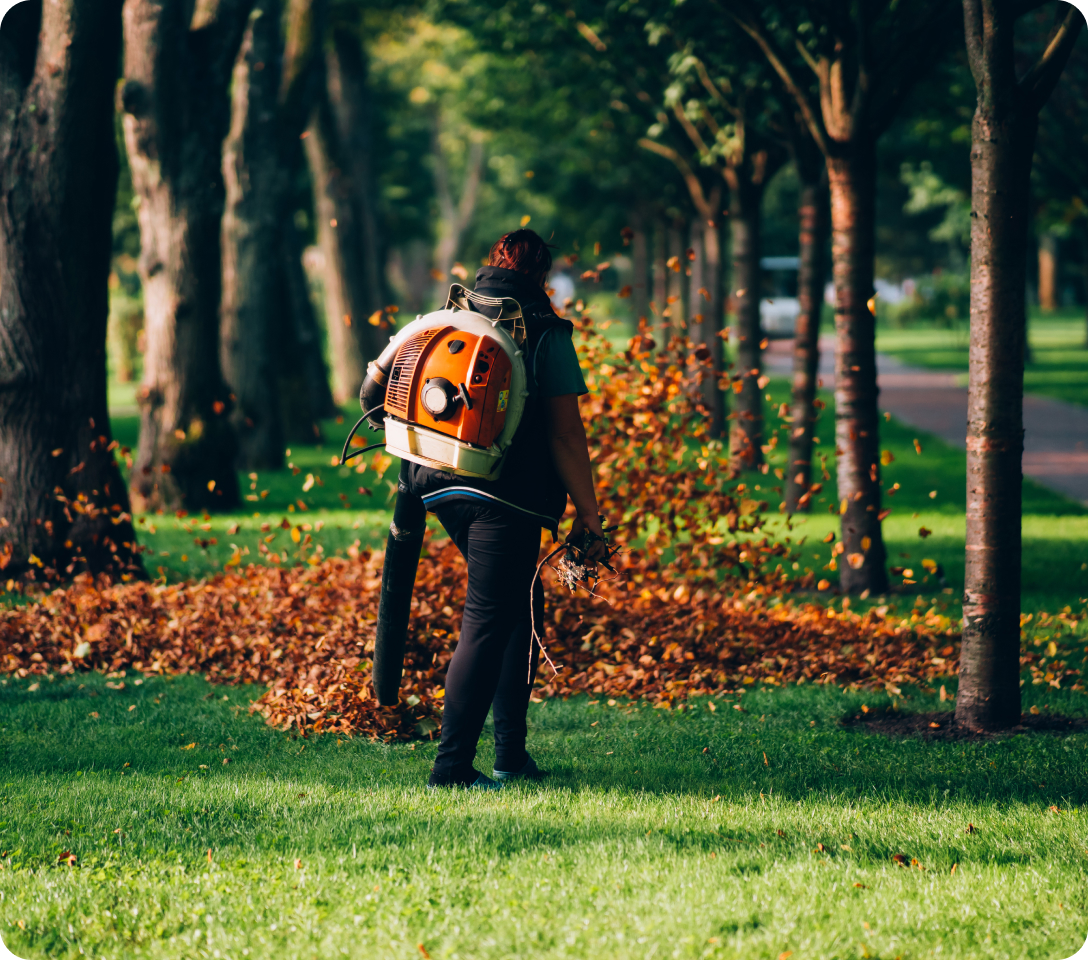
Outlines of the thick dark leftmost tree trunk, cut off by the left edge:
{"label": "thick dark leftmost tree trunk, cut off by the left edge", "polygon": [[0,28],[0,577],[143,576],[106,401],[120,0]]}

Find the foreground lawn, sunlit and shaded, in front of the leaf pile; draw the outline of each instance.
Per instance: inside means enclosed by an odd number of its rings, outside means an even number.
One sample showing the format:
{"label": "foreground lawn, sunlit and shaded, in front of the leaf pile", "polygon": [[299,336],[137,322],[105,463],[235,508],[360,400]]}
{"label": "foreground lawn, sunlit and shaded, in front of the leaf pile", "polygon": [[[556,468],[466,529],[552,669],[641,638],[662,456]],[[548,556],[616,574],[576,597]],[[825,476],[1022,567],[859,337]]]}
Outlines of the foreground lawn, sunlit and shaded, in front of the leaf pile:
{"label": "foreground lawn, sunlit and shaded, in front of the leaf pile", "polygon": [[841,725],[885,696],[812,687],[548,701],[549,779],[431,792],[432,743],[302,741],[252,689],[133,676],[0,686],[20,957],[1052,960],[1088,931],[1086,734],[891,741]]}

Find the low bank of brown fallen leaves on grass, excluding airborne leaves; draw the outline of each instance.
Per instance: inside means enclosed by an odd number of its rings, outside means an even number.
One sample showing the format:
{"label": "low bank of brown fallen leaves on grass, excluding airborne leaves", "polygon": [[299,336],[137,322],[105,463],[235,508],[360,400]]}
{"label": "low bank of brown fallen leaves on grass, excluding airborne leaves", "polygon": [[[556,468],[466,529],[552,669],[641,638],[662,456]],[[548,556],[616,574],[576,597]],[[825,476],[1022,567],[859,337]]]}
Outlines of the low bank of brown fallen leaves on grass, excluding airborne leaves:
{"label": "low bank of brown fallen leaves on grass, excluding airborne leaves", "polygon": [[[383,709],[369,684],[381,561],[380,552],[361,552],[317,566],[251,565],[175,586],[84,578],[0,613],[0,668],[17,676],[200,673],[218,682],[270,685],[255,707],[277,725],[383,739],[432,736],[460,626],[463,562],[448,541],[428,544],[401,703]],[[934,610],[858,616],[782,603],[757,587],[677,587],[662,596],[628,590],[633,583],[625,576],[603,587],[610,603],[549,589],[546,642],[558,674],[541,670],[542,696],[589,691],[669,702],[756,681],[897,689],[954,669],[955,630]]]}

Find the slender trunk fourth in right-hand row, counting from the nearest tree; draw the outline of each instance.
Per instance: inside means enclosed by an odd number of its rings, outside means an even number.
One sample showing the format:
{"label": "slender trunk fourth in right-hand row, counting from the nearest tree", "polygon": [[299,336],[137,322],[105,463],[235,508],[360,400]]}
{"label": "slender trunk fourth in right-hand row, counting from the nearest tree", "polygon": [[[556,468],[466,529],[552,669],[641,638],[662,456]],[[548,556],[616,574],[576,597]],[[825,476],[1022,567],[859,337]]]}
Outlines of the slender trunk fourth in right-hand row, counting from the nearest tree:
{"label": "slender trunk fourth in right-hand row, counting from the nearest tree", "polygon": [[730,190],[729,229],[733,260],[733,304],[737,310],[737,377],[734,420],[729,439],[730,469],[739,473],[763,464],[763,330],[759,323],[759,224],[763,184],[740,180]]}

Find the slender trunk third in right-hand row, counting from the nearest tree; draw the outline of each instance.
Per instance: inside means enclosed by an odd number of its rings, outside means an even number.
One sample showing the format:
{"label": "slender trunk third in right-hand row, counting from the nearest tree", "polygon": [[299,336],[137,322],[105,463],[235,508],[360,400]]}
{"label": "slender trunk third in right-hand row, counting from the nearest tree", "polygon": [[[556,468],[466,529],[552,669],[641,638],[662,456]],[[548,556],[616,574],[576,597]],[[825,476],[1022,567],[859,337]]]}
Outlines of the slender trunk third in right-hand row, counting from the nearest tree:
{"label": "slender trunk third in right-hand row, counting from the nearest tree", "polygon": [[[798,164],[799,168],[801,164]],[[819,321],[827,276],[825,248],[828,231],[827,179],[816,164],[818,179],[802,177],[798,202],[799,250],[798,322],[793,332],[793,387],[790,405],[789,476],[786,478],[787,513],[806,512],[812,505],[813,434],[816,423],[816,371],[819,369]]]}

